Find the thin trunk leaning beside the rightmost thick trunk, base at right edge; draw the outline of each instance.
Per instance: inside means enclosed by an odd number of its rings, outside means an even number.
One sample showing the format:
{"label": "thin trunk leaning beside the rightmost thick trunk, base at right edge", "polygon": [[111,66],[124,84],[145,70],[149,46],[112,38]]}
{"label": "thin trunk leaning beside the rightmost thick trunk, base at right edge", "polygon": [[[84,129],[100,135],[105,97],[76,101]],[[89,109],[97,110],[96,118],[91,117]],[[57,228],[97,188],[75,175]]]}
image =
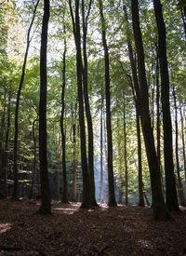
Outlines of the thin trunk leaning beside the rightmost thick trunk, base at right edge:
{"label": "thin trunk leaning beside the rightmost thick trunk, base at right edge", "polygon": [[179,200],[182,207],[186,206],[185,197],[183,193],[183,185],[180,178],[180,167],[179,167],[179,128],[178,128],[178,109],[177,109],[177,99],[175,94],[175,89],[172,89],[172,94],[174,97],[174,107],[175,107],[175,155],[177,163],[177,176],[178,176],[178,191],[179,191]]}

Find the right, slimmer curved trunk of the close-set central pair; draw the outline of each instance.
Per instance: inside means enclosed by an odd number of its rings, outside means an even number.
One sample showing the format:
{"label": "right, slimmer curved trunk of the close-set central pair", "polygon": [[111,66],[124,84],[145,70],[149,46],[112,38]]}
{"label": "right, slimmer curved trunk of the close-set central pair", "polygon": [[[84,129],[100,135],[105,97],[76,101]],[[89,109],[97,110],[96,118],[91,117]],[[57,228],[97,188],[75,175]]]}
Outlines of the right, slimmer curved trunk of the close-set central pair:
{"label": "right, slimmer curved trunk of the close-set central pair", "polygon": [[87,34],[87,20],[91,9],[92,0],[89,2],[89,8],[85,17],[84,0],[82,0],[82,17],[83,17],[83,84],[84,84],[84,99],[86,108],[86,121],[87,121],[87,135],[88,135],[88,170],[90,182],[90,201],[92,206],[98,206],[95,198],[95,181],[94,181],[94,137],[92,117],[90,114],[88,87],[87,87],[87,55],[86,55],[86,34]]}

